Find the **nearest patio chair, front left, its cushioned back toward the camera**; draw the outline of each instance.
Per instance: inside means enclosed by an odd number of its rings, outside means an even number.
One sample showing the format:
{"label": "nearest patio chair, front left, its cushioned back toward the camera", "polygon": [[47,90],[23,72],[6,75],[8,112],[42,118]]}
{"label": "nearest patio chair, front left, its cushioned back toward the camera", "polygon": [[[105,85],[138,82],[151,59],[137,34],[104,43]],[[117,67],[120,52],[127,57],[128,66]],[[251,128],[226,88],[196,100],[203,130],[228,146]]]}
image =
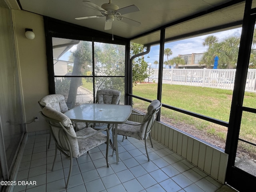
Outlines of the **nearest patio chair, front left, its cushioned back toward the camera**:
{"label": "nearest patio chair, front left, its cushioned back toward the camera", "polygon": [[[52,107],[44,107],[41,115],[46,119],[46,122],[50,125],[50,131],[55,141],[55,156],[52,164],[52,170],[54,169],[54,163],[57,156],[57,150],[59,150],[64,156],[70,159],[70,168],[68,174],[68,180],[66,182],[66,188],[72,172],[73,158],[78,158],[88,152],[89,150],[106,143],[106,164],[108,165],[108,146],[109,146],[109,130],[108,128],[100,129],[98,131],[88,127],[80,131],[75,132],[71,120],[65,115],[55,110]],[[106,131],[106,134],[102,133]]]}

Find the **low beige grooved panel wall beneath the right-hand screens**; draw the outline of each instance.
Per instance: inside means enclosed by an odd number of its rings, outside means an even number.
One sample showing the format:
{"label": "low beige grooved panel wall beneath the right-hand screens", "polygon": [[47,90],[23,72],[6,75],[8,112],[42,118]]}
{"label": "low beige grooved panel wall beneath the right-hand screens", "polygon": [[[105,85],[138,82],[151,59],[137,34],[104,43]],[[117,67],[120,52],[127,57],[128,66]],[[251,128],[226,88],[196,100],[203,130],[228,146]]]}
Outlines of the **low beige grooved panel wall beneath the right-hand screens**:
{"label": "low beige grooved panel wall beneath the right-hand screens", "polygon": [[[142,122],[143,116],[132,114],[130,120]],[[151,136],[214,179],[225,183],[228,154],[161,122],[155,122]]]}

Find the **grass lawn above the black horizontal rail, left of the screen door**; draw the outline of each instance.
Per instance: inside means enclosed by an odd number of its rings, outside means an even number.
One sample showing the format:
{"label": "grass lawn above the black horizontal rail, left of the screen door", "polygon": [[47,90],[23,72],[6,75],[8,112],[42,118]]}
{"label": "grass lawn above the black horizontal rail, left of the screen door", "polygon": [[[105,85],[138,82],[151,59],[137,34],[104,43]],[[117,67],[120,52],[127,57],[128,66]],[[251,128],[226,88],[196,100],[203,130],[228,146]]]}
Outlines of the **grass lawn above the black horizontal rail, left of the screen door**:
{"label": "grass lawn above the black horizontal rail, left of the screen door", "polygon": [[[133,94],[156,98],[157,84],[137,84]],[[177,108],[228,121],[232,99],[231,90],[163,84],[162,103]]]}

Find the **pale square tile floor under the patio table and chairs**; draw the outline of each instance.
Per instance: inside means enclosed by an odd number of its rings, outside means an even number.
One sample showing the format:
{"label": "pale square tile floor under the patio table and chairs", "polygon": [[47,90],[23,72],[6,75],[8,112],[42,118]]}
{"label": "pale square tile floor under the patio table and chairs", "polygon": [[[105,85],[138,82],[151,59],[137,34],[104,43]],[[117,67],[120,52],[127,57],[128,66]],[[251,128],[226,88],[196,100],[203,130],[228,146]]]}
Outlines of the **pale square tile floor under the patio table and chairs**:
{"label": "pale square tile floor under the patio table and chairs", "polygon": [[148,147],[151,160],[148,162],[144,142],[133,138],[122,142],[122,136],[118,136],[119,164],[109,150],[110,166],[106,167],[106,145],[102,144],[89,154],[74,159],[66,189],[69,160],[58,152],[52,171],[55,145],[52,140],[48,149],[48,139],[49,134],[30,134],[28,137],[16,180],[36,181],[36,185],[17,185],[14,192],[225,191],[221,183],[159,142],[153,140],[154,148]]}

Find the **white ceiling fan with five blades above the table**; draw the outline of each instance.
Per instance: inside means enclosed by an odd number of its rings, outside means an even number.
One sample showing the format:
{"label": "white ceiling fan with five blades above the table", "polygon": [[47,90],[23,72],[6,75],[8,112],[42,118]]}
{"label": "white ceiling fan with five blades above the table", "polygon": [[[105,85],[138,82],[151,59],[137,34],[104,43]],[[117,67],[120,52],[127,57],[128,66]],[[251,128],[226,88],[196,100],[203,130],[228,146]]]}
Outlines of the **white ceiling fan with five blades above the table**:
{"label": "white ceiling fan with five blades above the table", "polygon": [[100,18],[100,17],[106,17],[105,21],[105,30],[110,30],[112,28],[112,22],[114,21],[114,18],[116,17],[117,20],[125,22],[127,24],[133,25],[133,26],[140,26],[140,22],[134,21],[132,19],[128,19],[123,17],[122,15],[132,13],[139,11],[140,9],[135,5],[130,5],[124,8],[120,8],[116,5],[111,3],[111,0],[109,0],[109,3],[104,3],[100,6],[90,2],[90,1],[83,1],[84,5],[90,8],[93,8],[95,10],[98,10],[101,12],[101,15],[92,15],[92,16],[85,16],[85,17],[77,17],[75,19],[88,19],[88,18]]}

